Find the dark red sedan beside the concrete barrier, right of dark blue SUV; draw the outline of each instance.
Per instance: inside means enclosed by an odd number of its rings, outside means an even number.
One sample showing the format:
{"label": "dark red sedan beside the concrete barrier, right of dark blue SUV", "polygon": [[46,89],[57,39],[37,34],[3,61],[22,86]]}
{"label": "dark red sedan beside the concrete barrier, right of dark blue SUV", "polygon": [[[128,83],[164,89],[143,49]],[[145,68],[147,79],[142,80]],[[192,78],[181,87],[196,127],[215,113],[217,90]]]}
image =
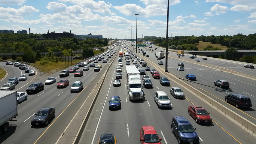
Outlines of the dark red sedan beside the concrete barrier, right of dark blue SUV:
{"label": "dark red sedan beside the concrete barrier, right of dark blue SUV", "polygon": [[188,115],[190,115],[197,123],[211,124],[212,118],[207,111],[200,106],[189,106]]}

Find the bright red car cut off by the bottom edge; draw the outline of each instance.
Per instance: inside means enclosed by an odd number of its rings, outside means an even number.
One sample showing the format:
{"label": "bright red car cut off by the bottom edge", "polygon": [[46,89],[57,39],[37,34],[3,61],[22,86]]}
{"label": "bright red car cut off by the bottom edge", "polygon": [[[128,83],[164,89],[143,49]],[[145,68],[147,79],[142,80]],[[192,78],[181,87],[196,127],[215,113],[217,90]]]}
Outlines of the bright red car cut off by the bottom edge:
{"label": "bright red car cut off by the bottom edge", "polygon": [[155,143],[161,144],[157,131],[153,126],[143,126],[140,130],[140,142],[142,144]]}

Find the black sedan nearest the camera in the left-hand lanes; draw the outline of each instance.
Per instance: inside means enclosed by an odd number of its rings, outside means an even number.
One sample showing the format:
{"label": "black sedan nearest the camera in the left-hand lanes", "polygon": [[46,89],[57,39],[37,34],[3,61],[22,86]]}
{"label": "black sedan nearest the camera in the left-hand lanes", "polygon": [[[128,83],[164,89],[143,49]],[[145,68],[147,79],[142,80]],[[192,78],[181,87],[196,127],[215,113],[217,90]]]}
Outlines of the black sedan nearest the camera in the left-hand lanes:
{"label": "black sedan nearest the camera in the left-hand lanes", "polygon": [[37,113],[35,113],[35,117],[31,120],[31,125],[47,126],[49,124],[49,121],[54,119],[54,117],[55,117],[55,109],[53,107],[41,108]]}

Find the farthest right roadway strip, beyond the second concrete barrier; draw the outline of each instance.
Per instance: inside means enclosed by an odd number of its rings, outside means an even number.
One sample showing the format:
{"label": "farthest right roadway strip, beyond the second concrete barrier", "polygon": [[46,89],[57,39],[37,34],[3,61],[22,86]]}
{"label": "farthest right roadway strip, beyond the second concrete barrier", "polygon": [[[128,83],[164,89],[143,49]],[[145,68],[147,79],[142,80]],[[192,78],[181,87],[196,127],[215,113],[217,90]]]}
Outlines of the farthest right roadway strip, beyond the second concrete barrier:
{"label": "farthest right roadway strip, beyond the second concrete barrier", "polygon": [[[155,50],[155,47],[157,47],[157,50]],[[148,48],[148,47],[146,47]],[[160,47],[160,46],[155,46],[154,44],[152,44],[152,48],[154,48],[154,52],[155,51],[164,51],[165,53],[165,48],[163,47]],[[177,56],[177,52],[171,52],[169,51],[169,55],[170,56]],[[184,54],[184,57],[181,56],[180,59],[187,59],[187,60],[200,60],[201,63],[206,63],[206,64],[212,64],[212,65],[215,65],[215,66],[218,66],[218,67],[222,67],[222,68],[226,68],[226,69],[229,69],[229,70],[233,70],[233,71],[237,71],[239,73],[244,73],[244,74],[247,74],[247,75],[251,75],[251,76],[256,76],[256,69],[253,68],[245,68],[245,64],[240,64],[240,63],[237,63],[236,61],[233,61],[233,62],[229,62],[229,61],[223,61],[223,59],[212,59],[210,57],[207,57],[208,60],[203,60],[202,58],[204,58],[204,56],[200,56],[200,55],[197,55],[197,58],[195,59],[192,59],[192,58],[189,58],[190,54]]]}

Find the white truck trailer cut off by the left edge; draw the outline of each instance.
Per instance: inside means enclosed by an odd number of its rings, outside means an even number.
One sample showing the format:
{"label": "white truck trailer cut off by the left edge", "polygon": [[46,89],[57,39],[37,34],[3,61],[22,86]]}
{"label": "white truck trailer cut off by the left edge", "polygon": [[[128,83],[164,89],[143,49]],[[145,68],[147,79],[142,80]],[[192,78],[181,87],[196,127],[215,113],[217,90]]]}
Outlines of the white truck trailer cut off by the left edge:
{"label": "white truck trailer cut off by the left edge", "polygon": [[18,116],[17,91],[0,91],[0,134],[7,131],[9,123]]}

